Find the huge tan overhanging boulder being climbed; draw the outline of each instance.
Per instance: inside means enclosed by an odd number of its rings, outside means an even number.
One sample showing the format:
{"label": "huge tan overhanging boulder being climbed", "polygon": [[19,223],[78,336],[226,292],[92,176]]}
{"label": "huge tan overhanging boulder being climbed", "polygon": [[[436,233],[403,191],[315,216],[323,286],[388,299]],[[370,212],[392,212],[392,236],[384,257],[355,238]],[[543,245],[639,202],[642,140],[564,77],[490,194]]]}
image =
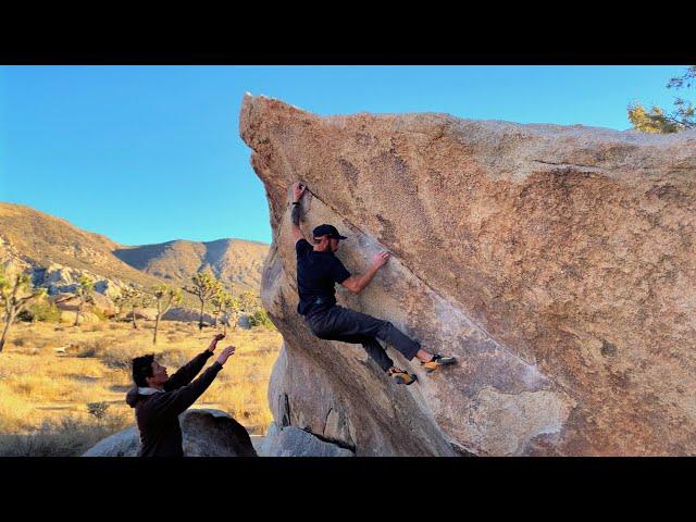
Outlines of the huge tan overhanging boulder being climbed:
{"label": "huge tan overhanging boulder being climbed", "polygon": [[[320,117],[246,96],[271,210],[262,299],[285,338],[276,423],[364,455],[696,455],[696,132]],[[339,303],[461,364],[391,383],[296,313],[289,185],[308,236],[389,263]],[[285,419],[285,422],[283,421]]]}

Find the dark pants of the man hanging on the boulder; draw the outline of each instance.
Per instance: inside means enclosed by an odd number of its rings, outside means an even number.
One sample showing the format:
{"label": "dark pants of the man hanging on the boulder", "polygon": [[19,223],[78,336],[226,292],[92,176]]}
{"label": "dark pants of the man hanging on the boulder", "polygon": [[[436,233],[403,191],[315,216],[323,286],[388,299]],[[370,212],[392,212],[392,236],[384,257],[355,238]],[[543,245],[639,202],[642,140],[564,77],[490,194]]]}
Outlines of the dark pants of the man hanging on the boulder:
{"label": "dark pants of the man hanging on the boulder", "polygon": [[391,345],[409,361],[415,357],[421,345],[399,332],[388,321],[356,312],[348,308],[333,306],[306,318],[312,333],[320,339],[341,340],[362,345],[368,355],[385,372],[394,365],[377,339]]}

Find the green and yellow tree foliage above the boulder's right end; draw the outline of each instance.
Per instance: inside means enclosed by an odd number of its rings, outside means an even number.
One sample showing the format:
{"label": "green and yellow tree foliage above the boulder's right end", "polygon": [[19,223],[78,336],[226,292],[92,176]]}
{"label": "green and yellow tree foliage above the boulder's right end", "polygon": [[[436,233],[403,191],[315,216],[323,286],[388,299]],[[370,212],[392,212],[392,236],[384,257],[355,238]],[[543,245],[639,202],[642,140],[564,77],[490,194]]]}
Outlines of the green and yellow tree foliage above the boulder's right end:
{"label": "green and yellow tree foliage above the boulder's right end", "polygon": [[[691,65],[682,76],[671,78],[667,84],[667,88],[691,88],[695,84],[696,65]],[[629,120],[636,130],[672,134],[696,128],[696,109],[691,101],[680,97],[674,98],[674,111],[669,114],[656,105],[652,105],[647,111],[641,103],[631,103],[629,105]]]}

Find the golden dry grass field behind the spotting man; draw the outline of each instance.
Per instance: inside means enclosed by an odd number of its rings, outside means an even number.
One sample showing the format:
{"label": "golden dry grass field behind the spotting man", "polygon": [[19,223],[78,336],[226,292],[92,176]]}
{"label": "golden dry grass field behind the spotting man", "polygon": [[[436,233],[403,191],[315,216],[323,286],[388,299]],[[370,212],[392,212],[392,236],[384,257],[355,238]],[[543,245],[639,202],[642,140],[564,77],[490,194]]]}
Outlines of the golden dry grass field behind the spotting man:
{"label": "golden dry grass field behind the spotting man", "polygon": [[[165,321],[153,346],[151,325],[142,323],[137,331],[127,323],[14,325],[0,353],[0,455],[79,455],[133,423],[124,401],[133,384],[130,359],[154,352],[172,374],[215,333]],[[266,389],[281,343],[275,331],[229,331],[220,346],[233,344],[237,351],[195,407],[224,410],[249,433],[263,434],[272,420]],[[104,419],[89,413],[91,402],[109,405]]]}

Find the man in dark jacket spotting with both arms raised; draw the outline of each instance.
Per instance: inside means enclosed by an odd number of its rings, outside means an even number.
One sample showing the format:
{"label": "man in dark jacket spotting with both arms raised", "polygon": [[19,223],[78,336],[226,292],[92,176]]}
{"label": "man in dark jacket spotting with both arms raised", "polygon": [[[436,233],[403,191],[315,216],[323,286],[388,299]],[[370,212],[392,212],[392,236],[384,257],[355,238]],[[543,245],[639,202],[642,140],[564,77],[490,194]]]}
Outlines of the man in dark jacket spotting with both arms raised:
{"label": "man in dark jacket spotting with both arms raised", "polygon": [[224,334],[215,335],[202,353],[196,356],[171,377],[166,374],[166,366],[157,362],[153,355],[133,359],[135,386],[128,390],[126,402],[130,408],[135,408],[140,432],[140,457],[184,456],[178,415],[208,389],[223,364],[235,352],[234,346],[224,348],[217,360],[194,381],[215,351],[217,341],[224,337]]}

